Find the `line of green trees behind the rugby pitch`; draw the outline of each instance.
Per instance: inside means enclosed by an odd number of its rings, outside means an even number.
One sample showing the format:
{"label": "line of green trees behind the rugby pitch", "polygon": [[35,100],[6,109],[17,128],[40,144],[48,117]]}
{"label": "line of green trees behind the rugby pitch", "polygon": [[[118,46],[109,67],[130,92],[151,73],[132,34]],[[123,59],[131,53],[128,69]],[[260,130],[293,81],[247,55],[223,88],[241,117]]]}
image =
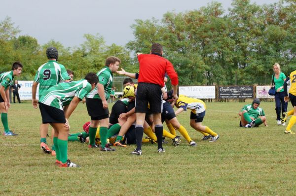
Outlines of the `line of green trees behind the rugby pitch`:
{"label": "line of green trees behind the rugby pitch", "polygon": [[[99,34],[84,34],[78,47],[50,40],[39,45],[30,35],[19,35],[10,17],[0,22],[0,71],[21,61],[32,80],[46,62],[45,50],[54,46],[59,62],[83,77],[98,71],[108,56],[117,56],[129,72],[138,71],[136,52],[149,53],[152,43],[164,46],[164,57],[175,66],[180,85],[270,84],[272,65],[288,75],[296,68],[296,1],[257,5],[233,0],[227,11],[216,1],[186,12],[170,11],[162,19],[135,20],[134,40],[125,46],[106,45]],[[132,54],[132,55],[131,55]]]}

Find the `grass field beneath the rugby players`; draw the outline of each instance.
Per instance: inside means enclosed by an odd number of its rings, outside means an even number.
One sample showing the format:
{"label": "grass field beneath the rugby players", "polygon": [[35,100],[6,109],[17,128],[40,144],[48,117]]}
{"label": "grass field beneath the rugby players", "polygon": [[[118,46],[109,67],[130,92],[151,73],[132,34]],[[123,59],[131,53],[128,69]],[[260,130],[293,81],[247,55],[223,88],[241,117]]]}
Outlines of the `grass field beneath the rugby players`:
{"label": "grass field beneath the rugby players", "polygon": [[[183,139],[178,147],[165,144],[160,155],[155,144],[145,144],[138,157],[129,155],[135,146],[101,152],[69,142],[69,158],[80,168],[54,165],[55,157],[39,148],[39,111],[29,103],[12,104],[9,126],[19,135],[0,136],[0,195],[296,195],[296,135],[276,125],[275,103],[260,104],[269,127],[253,129],[238,126],[237,113],[247,103],[206,104],[203,124],[220,134],[217,142],[201,141],[187,111],[178,119],[197,147]],[[71,132],[81,131],[88,120],[79,104]]]}

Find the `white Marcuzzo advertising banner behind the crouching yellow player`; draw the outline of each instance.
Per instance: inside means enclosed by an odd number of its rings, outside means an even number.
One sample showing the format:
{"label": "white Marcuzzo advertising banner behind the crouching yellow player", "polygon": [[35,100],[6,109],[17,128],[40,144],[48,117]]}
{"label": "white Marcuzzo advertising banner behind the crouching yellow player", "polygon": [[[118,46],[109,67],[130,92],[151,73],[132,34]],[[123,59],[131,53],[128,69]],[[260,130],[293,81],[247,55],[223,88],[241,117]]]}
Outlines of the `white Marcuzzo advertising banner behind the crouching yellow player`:
{"label": "white Marcuzzo advertising banner behind the crouching yellow player", "polygon": [[191,98],[216,98],[215,86],[180,86],[179,94]]}

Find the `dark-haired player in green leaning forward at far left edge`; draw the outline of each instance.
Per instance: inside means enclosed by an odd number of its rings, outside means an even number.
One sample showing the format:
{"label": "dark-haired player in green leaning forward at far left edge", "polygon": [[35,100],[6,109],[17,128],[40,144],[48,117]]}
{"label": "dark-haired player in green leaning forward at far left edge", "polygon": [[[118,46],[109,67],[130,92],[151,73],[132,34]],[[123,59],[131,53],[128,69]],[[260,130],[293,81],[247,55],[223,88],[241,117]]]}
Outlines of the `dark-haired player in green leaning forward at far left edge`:
{"label": "dark-haired player in green leaning forward at far left edge", "polygon": [[0,74],[0,113],[1,121],[4,127],[3,135],[13,136],[17,135],[9,130],[7,112],[10,107],[9,101],[9,88],[13,81],[14,76],[19,76],[22,73],[23,65],[20,62],[15,62],[11,68],[12,71],[4,72]]}

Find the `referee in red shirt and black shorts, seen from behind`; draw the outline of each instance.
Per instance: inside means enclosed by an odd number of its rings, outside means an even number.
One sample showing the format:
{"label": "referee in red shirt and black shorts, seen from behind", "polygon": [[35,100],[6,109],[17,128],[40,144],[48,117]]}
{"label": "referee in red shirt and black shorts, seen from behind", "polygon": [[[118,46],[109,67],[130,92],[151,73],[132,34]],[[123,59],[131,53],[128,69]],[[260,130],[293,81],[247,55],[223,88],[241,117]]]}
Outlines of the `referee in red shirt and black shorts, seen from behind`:
{"label": "referee in red shirt and black shorts, seen from behind", "polygon": [[136,95],[136,140],[137,148],[132,152],[133,155],[142,155],[142,138],[144,132],[145,115],[148,112],[148,103],[150,113],[153,115],[155,125],[155,134],[157,137],[158,152],[165,152],[162,147],[162,92],[164,86],[164,76],[167,73],[173,86],[173,99],[177,100],[178,75],[173,65],[167,59],[162,57],[162,46],[159,43],[153,43],[150,54],[137,53],[140,64],[138,87]]}

